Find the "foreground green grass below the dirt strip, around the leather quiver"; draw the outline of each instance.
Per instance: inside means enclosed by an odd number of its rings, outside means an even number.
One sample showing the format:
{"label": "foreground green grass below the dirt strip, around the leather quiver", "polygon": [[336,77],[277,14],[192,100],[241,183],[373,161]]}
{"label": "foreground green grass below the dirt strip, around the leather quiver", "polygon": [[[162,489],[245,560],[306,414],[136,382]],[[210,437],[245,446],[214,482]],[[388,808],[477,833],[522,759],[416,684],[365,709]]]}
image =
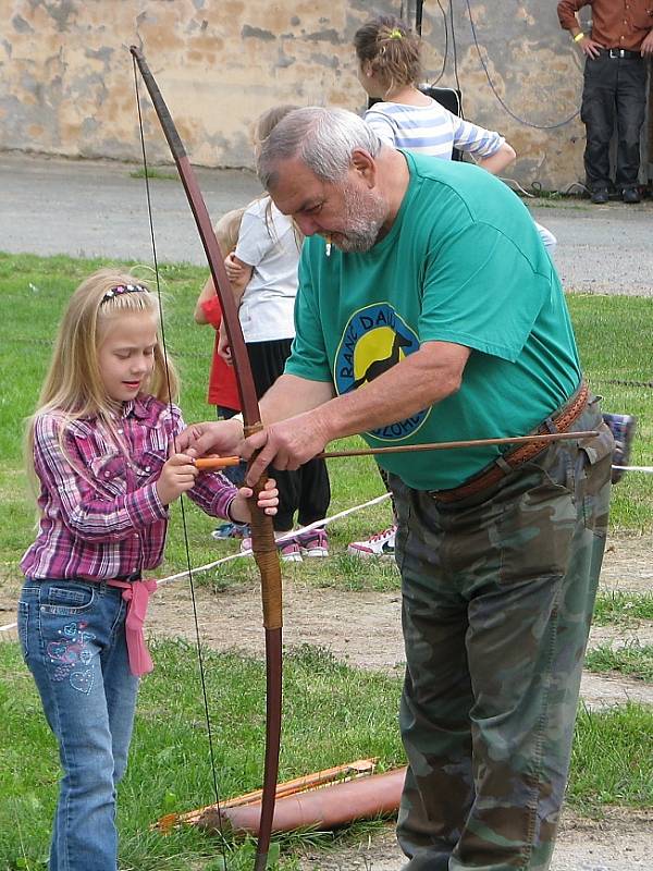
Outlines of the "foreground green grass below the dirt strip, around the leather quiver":
{"label": "foreground green grass below the dirt strip, around the leather quiver", "polygon": [[[159,641],[151,650],[157,668],[143,682],[120,788],[121,868],[209,871],[220,850],[217,838],[195,830],[165,837],[150,831],[165,813],[214,801],[195,650],[182,641]],[[229,653],[206,651],[205,660],[217,776],[226,798],[260,786],[264,668]],[[396,727],[399,686],[395,677],[352,668],[316,648],[287,654],[281,780],[370,756],[380,758],[382,770],[404,764]],[[0,871],[35,869],[47,852],[59,770],[15,643],[0,645],[0,717],[9,736],[0,750]],[[577,809],[653,806],[652,729],[653,709],[581,709],[569,785]],[[297,836],[283,841],[281,867],[288,871],[295,842]],[[227,848],[230,868],[250,860],[250,845],[230,842]],[[16,864],[19,858],[27,864]]]}

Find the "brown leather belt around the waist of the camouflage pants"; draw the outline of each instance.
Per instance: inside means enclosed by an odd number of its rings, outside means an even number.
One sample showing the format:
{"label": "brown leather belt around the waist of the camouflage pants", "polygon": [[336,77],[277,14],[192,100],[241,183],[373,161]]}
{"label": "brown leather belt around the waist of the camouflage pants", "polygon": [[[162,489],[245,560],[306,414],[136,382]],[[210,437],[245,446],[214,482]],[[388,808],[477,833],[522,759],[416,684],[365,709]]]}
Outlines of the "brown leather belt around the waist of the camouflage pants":
{"label": "brown leather belt around the waist of the camouflage pants", "polygon": [[[534,432],[529,433],[533,436],[544,436],[549,432],[566,432],[571,424],[577,420],[586,405],[588,404],[589,388],[583,381],[578,388],[571,398],[563,405],[556,413],[556,416],[551,416],[538,427]],[[473,496],[485,490],[488,487],[501,481],[514,468],[520,466],[522,463],[528,463],[541,451],[549,446],[547,442],[530,442],[521,447],[516,447],[514,451],[503,454],[494,461],[492,466],[483,471],[479,471],[473,478],[470,478],[459,487],[454,487],[452,490],[431,490],[430,495],[436,502],[458,502],[461,499]]]}

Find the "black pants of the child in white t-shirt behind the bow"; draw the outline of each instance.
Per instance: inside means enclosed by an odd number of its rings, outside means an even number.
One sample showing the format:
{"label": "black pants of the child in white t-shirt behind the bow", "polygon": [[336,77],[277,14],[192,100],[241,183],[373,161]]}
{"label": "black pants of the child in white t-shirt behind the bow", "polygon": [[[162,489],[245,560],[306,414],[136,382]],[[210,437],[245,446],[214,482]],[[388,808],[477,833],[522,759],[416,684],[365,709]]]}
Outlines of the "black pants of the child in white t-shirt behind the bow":
{"label": "black pants of the child in white t-shirt behind the bow", "polygon": [[[256,395],[259,400],[283,373],[292,343],[292,339],[247,343]],[[331,501],[331,484],[323,459],[309,459],[297,471],[280,471],[271,468],[270,474],[276,479],[279,487],[279,512],[273,518],[276,531],[285,532],[293,528],[295,512],[301,526],[308,526],[326,516]]]}

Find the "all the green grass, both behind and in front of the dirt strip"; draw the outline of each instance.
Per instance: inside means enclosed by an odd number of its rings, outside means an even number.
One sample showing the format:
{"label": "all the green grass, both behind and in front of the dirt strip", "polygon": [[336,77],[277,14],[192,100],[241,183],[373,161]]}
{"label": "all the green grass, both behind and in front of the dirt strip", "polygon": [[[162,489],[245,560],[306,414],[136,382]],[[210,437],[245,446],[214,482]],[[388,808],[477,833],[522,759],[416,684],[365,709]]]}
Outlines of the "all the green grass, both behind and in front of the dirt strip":
{"label": "all the green grass, both behind and in front of the dirt strip", "polygon": [[[35,406],[67,296],[103,262],[0,254],[4,311],[0,323],[0,584],[19,581],[19,559],[33,535],[34,510],[21,461],[23,420]],[[147,268],[137,272],[150,278]],[[193,308],[205,279],[206,270],[188,265],[161,268],[168,298],[167,338],[177,352],[183,381],[181,405],[188,420],[207,419],[213,413],[206,404],[213,335],[210,328],[200,329],[193,322]],[[653,392],[609,382],[651,380],[651,300],[571,295],[569,305],[584,369],[594,389],[605,396],[604,408],[639,416],[631,462],[650,465]],[[370,458],[334,461],[330,474],[333,512],[382,492]],[[345,553],[348,541],[385,526],[389,516],[387,505],[382,504],[338,522],[331,527],[331,559],[284,566],[284,575],[338,589],[397,589],[398,575],[392,562],[360,563]],[[194,565],[237,549],[234,541],[214,542],[209,537],[213,522],[193,505],[188,506],[187,519]],[[185,567],[180,527],[178,507],[173,506],[160,577]],[[612,528],[632,535],[653,531],[650,479],[629,475],[615,488]],[[225,589],[257,582],[257,573],[250,560],[238,560],[215,577],[202,576],[202,580]],[[629,619],[651,618],[651,601],[646,597],[615,594],[609,600],[602,596],[597,614],[600,621],[630,625]],[[206,655],[221,792],[227,796],[260,785],[262,668],[238,657]],[[121,790],[123,867],[219,871],[214,839],[195,831],[162,838],[148,830],[150,822],[171,809],[184,810],[213,800],[195,653],[181,642],[167,642],[156,647],[155,657],[158,668],[144,682],[132,762]],[[638,667],[642,668],[641,659]],[[286,675],[282,777],[358,756],[378,755],[386,766],[401,762],[396,679],[356,672],[312,649],[291,657]],[[0,722],[9,736],[0,750],[0,871],[35,869],[47,851],[58,772],[54,745],[32,680],[11,643],[0,645]],[[652,731],[651,709],[628,706],[604,713],[584,712],[577,729],[571,801],[579,808],[613,802],[650,807]],[[238,848],[230,857],[229,867],[250,868],[250,845]],[[292,857],[284,859],[282,867],[291,871],[294,861]]]}

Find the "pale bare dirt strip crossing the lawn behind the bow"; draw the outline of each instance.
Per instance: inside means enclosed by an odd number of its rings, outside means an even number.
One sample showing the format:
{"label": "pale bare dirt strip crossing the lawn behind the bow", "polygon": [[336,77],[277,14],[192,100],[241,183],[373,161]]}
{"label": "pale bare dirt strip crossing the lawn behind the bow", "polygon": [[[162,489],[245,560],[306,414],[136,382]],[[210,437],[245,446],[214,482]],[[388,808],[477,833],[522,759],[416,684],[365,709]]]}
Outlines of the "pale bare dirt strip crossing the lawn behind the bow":
{"label": "pale bare dirt strip crossing the lawn behind the bow", "polygon": [[[652,538],[615,538],[605,556],[602,588],[631,592],[653,590]],[[367,566],[366,566],[367,567]],[[183,582],[161,587],[148,616],[150,631],[172,637],[194,637],[190,597]],[[198,624],[202,641],[215,649],[238,648],[262,657],[260,596],[256,588],[230,590],[213,596],[200,589],[197,597]],[[401,633],[398,593],[346,592],[315,589],[295,580],[284,582],[284,643],[318,645],[338,659],[361,668],[380,668],[401,674],[404,647]],[[382,643],[379,643],[382,639]],[[627,630],[593,627],[590,646],[611,641],[653,643],[653,624]],[[653,686],[612,675],[583,674],[582,697],[590,706],[616,704],[628,699],[653,704]]]}

